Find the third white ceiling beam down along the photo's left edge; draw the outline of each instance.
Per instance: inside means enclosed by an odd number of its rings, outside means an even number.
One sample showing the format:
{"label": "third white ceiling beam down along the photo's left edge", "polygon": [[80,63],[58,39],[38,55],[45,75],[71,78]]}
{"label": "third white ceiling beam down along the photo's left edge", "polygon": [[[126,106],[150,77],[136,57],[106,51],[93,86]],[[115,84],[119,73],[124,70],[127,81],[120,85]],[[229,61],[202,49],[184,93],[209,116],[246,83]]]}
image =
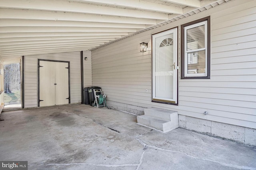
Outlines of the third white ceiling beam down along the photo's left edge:
{"label": "third white ceiling beam down along the photo's left edge", "polygon": [[106,22],[82,22],[82,21],[50,21],[50,20],[22,20],[22,19],[0,19],[0,27],[108,27],[108,28],[135,28],[144,29],[145,24],[131,23],[106,23]]}

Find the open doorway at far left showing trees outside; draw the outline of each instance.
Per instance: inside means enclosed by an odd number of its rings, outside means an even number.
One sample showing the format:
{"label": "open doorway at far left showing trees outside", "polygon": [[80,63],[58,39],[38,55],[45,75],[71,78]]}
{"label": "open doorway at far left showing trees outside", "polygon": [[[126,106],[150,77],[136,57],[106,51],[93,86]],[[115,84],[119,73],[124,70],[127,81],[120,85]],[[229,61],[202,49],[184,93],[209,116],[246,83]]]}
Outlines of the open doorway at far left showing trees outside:
{"label": "open doorway at far left showing trees outside", "polygon": [[21,107],[20,63],[4,65],[4,107]]}

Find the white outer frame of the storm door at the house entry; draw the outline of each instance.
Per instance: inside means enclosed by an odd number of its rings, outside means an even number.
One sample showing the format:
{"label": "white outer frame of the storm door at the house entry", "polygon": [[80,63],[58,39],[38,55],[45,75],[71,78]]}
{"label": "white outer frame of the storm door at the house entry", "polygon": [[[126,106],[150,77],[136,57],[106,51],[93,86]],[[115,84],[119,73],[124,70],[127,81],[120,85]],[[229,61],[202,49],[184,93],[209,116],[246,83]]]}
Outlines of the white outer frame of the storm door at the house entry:
{"label": "white outer frame of the storm door at the house entry", "polygon": [[[156,74],[155,74],[155,70],[156,70],[155,39],[157,37],[168,35],[170,33],[173,33],[173,55],[174,55],[173,64],[175,64],[174,70],[173,70],[173,98],[172,99],[157,98],[156,97]],[[178,27],[152,35],[152,102],[178,105],[178,69],[177,69],[178,68],[178,49],[177,48],[178,48]]]}

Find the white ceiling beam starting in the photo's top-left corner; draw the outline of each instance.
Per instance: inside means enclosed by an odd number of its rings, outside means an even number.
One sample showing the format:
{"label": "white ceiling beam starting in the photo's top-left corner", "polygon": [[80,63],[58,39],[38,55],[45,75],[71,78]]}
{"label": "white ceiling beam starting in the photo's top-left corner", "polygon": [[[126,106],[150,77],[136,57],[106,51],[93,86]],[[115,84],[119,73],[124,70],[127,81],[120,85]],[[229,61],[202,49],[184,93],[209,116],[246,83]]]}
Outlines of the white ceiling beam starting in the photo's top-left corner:
{"label": "white ceiling beam starting in the photo's top-left corner", "polygon": [[[26,10],[46,10],[54,12],[75,12],[82,14],[97,14],[106,16],[124,16],[132,18],[146,18],[154,20],[168,20],[168,14],[146,12],[138,10],[127,10],[120,8],[112,8],[107,6],[97,6],[84,4],[79,2],[68,2],[68,1],[54,1],[52,0],[1,0],[0,8],[15,8],[15,9],[26,9]],[[180,13],[183,14],[181,10]]]}

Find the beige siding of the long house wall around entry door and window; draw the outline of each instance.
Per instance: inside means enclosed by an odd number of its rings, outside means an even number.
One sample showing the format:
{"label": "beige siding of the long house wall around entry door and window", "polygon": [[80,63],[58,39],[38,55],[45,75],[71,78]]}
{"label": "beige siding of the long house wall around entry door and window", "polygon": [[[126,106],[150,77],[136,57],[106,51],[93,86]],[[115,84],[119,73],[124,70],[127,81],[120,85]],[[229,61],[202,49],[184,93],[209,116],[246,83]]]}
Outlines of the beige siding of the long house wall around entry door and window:
{"label": "beige siding of the long house wall around entry door and window", "polygon": [[[227,8],[229,8],[227,10]],[[151,34],[211,16],[211,79],[180,79],[178,106],[151,102]],[[92,85],[107,100],[256,128],[256,3],[233,0],[92,51]],[[140,53],[139,44],[149,43]],[[148,89],[148,93],[146,93]],[[208,111],[208,115],[204,115]]]}

